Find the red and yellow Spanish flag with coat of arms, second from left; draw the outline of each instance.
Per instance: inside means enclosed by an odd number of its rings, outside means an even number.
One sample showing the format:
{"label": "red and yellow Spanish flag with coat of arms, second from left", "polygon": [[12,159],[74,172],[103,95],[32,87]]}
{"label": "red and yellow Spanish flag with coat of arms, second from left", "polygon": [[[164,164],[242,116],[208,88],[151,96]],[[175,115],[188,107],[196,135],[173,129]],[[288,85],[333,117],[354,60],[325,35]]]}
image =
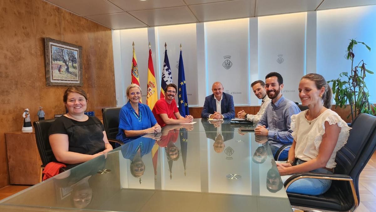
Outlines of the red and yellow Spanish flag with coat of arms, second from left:
{"label": "red and yellow Spanish flag with coat of arms, second from left", "polygon": [[158,101],[157,95],[157,83],[155,80],[153,59],[152,59],[152,49],[150,49],[149,44],[149,63],[147,68],[147,95],[146,104],[149,106],[150,110],[154,108],[155,103]]}

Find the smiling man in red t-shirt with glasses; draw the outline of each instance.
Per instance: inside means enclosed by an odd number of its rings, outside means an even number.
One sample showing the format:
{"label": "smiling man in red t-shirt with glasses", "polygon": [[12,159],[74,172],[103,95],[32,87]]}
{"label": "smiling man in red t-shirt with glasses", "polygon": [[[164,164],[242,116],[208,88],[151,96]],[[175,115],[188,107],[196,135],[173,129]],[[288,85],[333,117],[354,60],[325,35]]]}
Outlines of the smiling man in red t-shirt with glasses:
{"label": "smiling man in red t-shirt with glasses", "polygon": [[165,98],[158,100],[154,105],[152,112],[161,127],[166,124],[191,123],[193,120],[191,115],[185,117],[180,115],[175,101],[176,91],[176,84],[168,84],[164,93]]}

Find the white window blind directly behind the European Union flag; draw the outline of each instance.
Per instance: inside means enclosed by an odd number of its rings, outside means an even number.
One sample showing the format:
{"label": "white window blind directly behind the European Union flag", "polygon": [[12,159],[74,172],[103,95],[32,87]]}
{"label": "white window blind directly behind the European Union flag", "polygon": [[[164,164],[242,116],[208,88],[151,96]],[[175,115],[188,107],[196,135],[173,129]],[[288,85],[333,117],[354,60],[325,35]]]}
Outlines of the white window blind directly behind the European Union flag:
{"label": "white window blind directly behind the European Union flag", "polygon": [[[167,43],[167,55],[170,61],[170,69],[172,72],[172,81],[178,84],[178,63],[180,56],[180,43],[182,44],[182,55],[184,63],[185,81],[187,88],[188,104],[190,106],[199,105],[198,89],[197,89],[197,39],[196,24],[159,26],[156,27],[158,32],[159,45],[159,71],[162,71],[165,42]],[[162,73],[160,73],[162,75]],[[161,81],[157,82],[160,86]],[[176,97],[177,102],[177,97]]]}

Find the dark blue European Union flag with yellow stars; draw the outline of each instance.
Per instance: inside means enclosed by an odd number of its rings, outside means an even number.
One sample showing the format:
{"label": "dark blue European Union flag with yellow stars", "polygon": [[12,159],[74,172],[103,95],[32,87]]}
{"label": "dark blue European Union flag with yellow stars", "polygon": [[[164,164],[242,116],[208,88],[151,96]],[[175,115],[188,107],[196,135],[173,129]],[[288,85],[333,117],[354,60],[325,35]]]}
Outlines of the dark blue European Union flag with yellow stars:
{"label": "dark blue European Union flag with yellow stars", "polygon": [[179,112],[182,117],[189,115],[188,109],[188,98],[187,98],[187,90],[185,84],[185,74],[184,74],[184,66],[183,66],[183,56],[182,50],[180,50],[180,58],[179,58],[179,77],[178,77],[179,84],[177,85],[177,95],[179,100]]}

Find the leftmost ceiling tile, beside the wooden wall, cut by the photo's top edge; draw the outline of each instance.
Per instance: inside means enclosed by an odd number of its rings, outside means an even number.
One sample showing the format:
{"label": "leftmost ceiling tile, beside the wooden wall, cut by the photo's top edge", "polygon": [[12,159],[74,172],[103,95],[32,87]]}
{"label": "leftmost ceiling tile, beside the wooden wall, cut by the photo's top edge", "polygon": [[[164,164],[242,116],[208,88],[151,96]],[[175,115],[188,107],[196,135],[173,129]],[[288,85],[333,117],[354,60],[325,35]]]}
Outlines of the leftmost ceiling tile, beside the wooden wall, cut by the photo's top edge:
{"label": "leftmost ceiling tile, beside the wooden wall, cut by the photo's top edge", "polygon": [[106,0],[47,0],[54,5],[72,11],[76,14],[99,15],[115,12],[124,12],[122,9]]}

